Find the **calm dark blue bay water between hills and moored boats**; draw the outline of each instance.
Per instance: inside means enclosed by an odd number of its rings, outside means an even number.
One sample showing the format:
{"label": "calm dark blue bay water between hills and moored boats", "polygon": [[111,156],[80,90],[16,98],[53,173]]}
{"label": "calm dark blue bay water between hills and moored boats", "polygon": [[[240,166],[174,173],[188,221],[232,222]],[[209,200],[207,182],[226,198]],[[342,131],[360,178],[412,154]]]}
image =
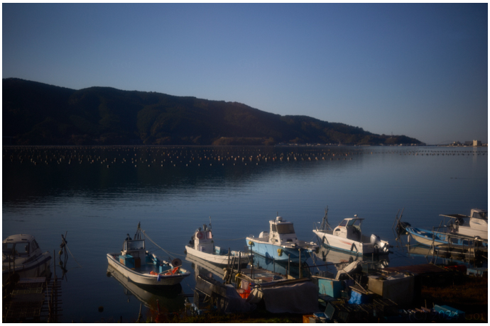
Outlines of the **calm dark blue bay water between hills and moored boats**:
{"label": "calm dark blue bay water between hills and moored boats", "polygon": [[[332,224],[357,214],[366,234],[396,245],[391,226],[402,208],[403,220],[425,228],[443,213],[488,208],[486,147],[4,147],[2,169],[3,238],[33,234],[58,256],[67,232],[65,322],[136,320],[140,300],[106,276],[106,254],[138,222],[192,270],[184,246],[209,216],[217,245],[232,249],[277,214],[315,241],[326,206]],[[390,266],[425,262],[394,250]],[[176,293],[157,294],[163,309],[183,305]]]}

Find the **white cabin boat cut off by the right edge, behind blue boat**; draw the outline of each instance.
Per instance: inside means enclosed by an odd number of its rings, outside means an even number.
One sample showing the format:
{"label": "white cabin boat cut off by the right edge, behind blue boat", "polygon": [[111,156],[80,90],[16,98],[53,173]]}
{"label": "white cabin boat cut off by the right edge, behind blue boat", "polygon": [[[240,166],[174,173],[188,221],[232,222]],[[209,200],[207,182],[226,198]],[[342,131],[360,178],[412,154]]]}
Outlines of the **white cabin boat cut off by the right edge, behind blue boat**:
{"label": "white cabin boat cut off by the right edge, behind blue boat", "polygon": [[489,240],[489,218],[486,210],[474,208],[469,216],[462,214],[442,214],[441,216],[452,218],[448,230],[450,233]]}

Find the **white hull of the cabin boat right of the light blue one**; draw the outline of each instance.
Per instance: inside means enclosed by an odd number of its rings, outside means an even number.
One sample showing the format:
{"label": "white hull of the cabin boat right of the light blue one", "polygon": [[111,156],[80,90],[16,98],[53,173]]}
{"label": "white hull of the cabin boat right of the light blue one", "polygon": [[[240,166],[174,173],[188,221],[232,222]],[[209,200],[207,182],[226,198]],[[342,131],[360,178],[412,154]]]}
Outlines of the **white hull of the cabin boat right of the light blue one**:
{"label": "white hull of the cabin boat right of the light blue one", "polygon": [[342,250],[342,252],[348,252],[354,256],[365,254],[388,254],[387,252],[379,250],[379,248],[375,247],[370,242],[363,243],[344,237],[337,237],[322,230],[313,230],[313,233],[317,235],[324,247]]}

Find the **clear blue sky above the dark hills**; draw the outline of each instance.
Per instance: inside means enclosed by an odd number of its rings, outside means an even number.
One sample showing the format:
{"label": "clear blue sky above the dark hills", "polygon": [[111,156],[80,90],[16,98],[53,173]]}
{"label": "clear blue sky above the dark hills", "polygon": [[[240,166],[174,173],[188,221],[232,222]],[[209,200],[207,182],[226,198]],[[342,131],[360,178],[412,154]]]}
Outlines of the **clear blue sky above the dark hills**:
{"label": "clear blue sky above the dark hills", "polygon": [[488,5],[2,4],[2,77],[488,140]]}

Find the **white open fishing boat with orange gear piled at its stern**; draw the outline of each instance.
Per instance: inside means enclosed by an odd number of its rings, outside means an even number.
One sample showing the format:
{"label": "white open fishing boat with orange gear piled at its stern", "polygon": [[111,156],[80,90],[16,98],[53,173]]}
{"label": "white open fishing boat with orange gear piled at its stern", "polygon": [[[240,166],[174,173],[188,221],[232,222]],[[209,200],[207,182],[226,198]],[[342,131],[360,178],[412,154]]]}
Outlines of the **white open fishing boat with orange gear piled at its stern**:
{"label": "white open fishing boat with orange gear piled at its stern", "polygon": [[190,275],[189,271],[181,267],[180,259],[166,262],[149,253],[145,249],[145,237],[141,235],[142,232],[144,235],[138,223],[134,240],[127,235],[120,253],[107,254],[109,265],[130,281],[142,285],[172,286]]}

